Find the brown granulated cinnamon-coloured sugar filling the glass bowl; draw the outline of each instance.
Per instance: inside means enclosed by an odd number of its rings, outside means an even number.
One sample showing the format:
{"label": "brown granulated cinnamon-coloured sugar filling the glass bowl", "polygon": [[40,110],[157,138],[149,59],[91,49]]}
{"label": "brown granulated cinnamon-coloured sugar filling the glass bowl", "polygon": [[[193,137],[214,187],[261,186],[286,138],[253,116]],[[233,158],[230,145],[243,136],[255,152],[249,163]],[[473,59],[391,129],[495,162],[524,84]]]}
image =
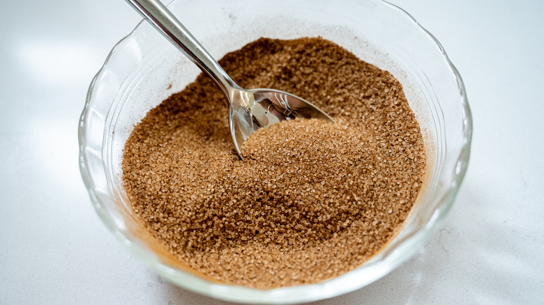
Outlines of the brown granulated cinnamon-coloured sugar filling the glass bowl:
{"label": "brown granulated cinnamon-coloured sugar filling the glass bowl", "polygon": [[225,55],[243,88],[300,95],[335,118],[262,129],[233,153],[222,93],[200,75],[139,123],[123,154],[133,212],[190,267],[276,288],[356,268],[393,237],[425,146],[390,73],[322,38],[261,38]]}

